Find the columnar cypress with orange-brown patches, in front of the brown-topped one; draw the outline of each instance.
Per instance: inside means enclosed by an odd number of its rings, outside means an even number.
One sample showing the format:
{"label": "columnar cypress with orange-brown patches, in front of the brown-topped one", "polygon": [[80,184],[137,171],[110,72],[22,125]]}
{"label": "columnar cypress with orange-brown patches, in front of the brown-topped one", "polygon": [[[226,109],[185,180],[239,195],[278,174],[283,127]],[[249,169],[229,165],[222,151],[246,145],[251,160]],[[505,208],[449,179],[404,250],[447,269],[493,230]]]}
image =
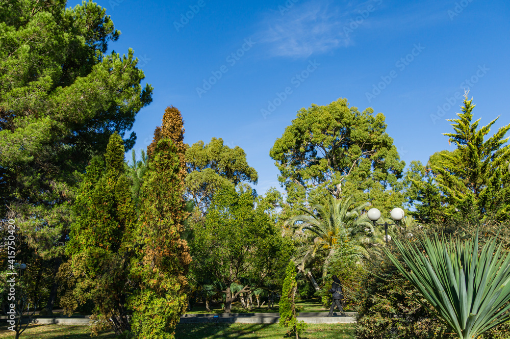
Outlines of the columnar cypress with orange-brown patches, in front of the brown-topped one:
{"label": "columnar cypress with orange-brown patches, in front of the brown-topped one", "polygon": [[142,187],[137,230],[140,248],[131,270],[139,290],[130,299],[132,326],[140,339],[171,339],[187,306],[191,256],[181,239],[186,216],[179,149],[170,139],[151,151]]}

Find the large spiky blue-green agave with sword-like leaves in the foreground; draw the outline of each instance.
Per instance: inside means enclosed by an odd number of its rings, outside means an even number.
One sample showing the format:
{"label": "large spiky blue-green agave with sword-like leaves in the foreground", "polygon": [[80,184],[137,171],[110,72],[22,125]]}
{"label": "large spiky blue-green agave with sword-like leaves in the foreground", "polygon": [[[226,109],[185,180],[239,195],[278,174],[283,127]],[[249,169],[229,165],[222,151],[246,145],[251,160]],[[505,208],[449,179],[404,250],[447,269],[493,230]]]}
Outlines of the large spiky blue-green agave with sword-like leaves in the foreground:
{"label": "large spiky blue-green agave with sword-like leaves in the foreground", "polygon": [[420,242],[424,251],[409,240],[395,240],[407,268],[385,251],[435,311],[429,310],[460,338],[475,339],[510,320],[510,255],[502,251],[502,244],[497,246],[495,238],[489,239],[478,254],[478,231],[467,241],[446,240],[444,235],[440,240],[436,234]]}

